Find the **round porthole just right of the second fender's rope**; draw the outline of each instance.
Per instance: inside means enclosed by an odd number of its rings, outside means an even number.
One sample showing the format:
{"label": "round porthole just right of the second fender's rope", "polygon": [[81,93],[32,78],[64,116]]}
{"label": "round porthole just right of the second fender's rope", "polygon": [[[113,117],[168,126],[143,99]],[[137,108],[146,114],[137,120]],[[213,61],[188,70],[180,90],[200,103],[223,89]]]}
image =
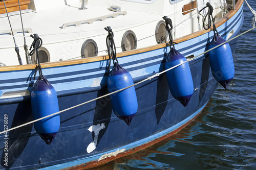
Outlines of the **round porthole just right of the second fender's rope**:
{"label": "round porthole just right of the second fender's rope", "polygon": [[137,38],[133,31],[129,30],[123,34],[121,48],[122,51],[134,50],[137,47]]}

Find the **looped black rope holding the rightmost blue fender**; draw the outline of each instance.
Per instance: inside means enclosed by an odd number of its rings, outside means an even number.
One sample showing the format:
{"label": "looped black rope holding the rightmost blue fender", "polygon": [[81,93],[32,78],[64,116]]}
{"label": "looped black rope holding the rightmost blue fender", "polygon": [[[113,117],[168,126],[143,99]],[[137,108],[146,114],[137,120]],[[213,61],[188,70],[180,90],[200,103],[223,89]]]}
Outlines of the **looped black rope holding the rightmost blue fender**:
{"label": "looped black rope holding the rightmost blue fender", "polygon": [[[205,15],[204,20],[203,20],[203,28],[204,28],[205,30],[210,29],[210,27],[211,27],[211,20],[212,20],[212,25],[213,25],[212,31],[214,31],[214,33],[216,32],[217,35],[219,35],[219,33],[218,33],[217,29],[216,29],[216,26],[215,26],[215,18],[212,16],[212,12],[214,12],[214,8],[210,5],[210,3],[206,3],[206,6],[205,6],[203,9],[201,9],[201,10],[199,11],[199,13],[200,13],[201,11],[203,11],[205,8],[208,8],[208,12],[207,12],[207,14]],[[207,15],[208,15],[208,27],[205,27],[205,20],[206,20],[206,18],[207,18]]]}

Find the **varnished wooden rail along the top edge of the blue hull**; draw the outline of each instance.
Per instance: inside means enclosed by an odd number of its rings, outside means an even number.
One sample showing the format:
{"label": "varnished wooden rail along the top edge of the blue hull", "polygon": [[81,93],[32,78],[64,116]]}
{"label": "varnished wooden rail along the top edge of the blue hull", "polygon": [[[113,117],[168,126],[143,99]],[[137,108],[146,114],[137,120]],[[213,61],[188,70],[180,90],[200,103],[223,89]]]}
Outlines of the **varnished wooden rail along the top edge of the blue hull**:
{"label": "varnished wooden rail along the top edge of the blue hull", "polygon": [[[216,27],[217,28],[220,27],[223,23],[225,23],[228,19],[230,19],[234,14],[236,14],[238,12],[238,10],[241,8],[241,6],[243,5],[243,3],[244,3],[244,0],[239,0],[236,4],[236,7],[235,7],[234,10],[231,10],[223,18],[221,18],[220,20],[218,20],[216,22]],[[186,35],[184,37],[180,37],[178,39],[175,39],[175,42],[180,43],[180,42],[198,37],[198,36],[203,35],[205,33],[208,33],[211,30],[212,30],[212,27],[209,30],[201,30],[201,31]],[[131,51],[127,51],[127,52],[118,53],[117,57],[123,57],[123,56],[129,56],[129,55],[144,53],[144,52],[148,52],[148,51],[153,51],[153,50],[157,50],[159,48],[163,48],[163,47],[166,47],[166,46],[168,46],[168,43],[161,43],[161,44],[157,44],[157,45],[153,45],[153,46],[149,46],[149,47],[145,47],[145,48],[140,48],[140,49],[136,49],[136,50],[131,50]],[[57,66],[67,66],[67,65],[90,63],[90,62],[102,61],[102,60],[108,60],[108,59],[109,59],[109,56],[105,55],[105,56],[98,56],[98,57],[85,58],[85,59],[77,59],[77,60],[70,60],[70,61],[58,61],[58,62],[51,62],[51,63],[42,63],[41,67],[42,68],[49,68],[49,67],[57,67]],[[35,68],[36,68],[35,64],[4,66],[4,67],[0,67],[0,71],[26,70],[26,69],[35,69]]]}

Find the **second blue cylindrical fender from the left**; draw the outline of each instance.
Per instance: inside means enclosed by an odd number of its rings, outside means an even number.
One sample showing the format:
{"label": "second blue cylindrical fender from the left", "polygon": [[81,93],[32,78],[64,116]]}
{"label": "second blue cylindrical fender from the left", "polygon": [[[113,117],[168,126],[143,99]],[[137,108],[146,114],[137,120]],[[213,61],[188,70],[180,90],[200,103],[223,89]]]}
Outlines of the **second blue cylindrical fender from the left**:
{"label": "second blue cylindrical fender from the left", "polygon": [[[115,65],[108,76],[109,92],[113,92],[133,84],[131,74],[115,62]],[[116,116],[124,120],[124,122],[129,126],[132,118],[138,110],[135,87],[133,86],[123,91],[111,94],[111,104]]]}

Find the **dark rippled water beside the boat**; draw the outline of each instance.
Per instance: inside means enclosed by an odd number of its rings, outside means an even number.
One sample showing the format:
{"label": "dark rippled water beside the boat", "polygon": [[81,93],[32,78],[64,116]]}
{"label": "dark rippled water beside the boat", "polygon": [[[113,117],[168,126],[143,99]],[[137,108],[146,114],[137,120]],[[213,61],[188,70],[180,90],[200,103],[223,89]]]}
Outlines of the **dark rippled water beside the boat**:
{"label": "dark rippled water beside the boat", "polygon": [[[256,10],[254,0],[247,1]],[[249,30],[252,14],[244,6]],[[256,30],[239,38],[236,74],[190,125],[160,143],[97,169],[256,169]]]}

